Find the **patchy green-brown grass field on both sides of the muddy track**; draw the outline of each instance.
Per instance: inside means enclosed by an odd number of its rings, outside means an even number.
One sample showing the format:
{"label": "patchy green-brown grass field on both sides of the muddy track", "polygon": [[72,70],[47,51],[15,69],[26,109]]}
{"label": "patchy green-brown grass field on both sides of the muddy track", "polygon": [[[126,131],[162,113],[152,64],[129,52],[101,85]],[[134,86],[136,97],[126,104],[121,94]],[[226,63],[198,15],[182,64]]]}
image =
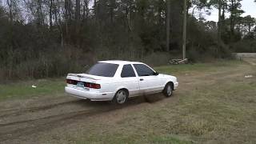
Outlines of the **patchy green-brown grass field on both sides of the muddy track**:
{"label": "patchy green-brown grass field on both sides of the muddy track", "polygon": [[[138,105],[128,104],[104,114],[74,118],[75,120],[67,125],[40,133],[36,141],[39,143],[256,142],[256,78],[245,78],[248,74],[256,76],[254,66],[246,62],[222,61],[160,66],[155,70],[178,76],[180,87],[174,91],[174,97],[158,96],[160,97],[158,101],[139,102]],[[49,95],[59,98],[64,94],[64,80],[65,78],[58,78],[2,85],[0,100],[24,101],[24,99]],[[38,87],[31,88],[33,84]],[[98,106],[99,109],[99,105],[93,106],[94,108]],[[110,104],[104,105],[110,106]],[[25,136],[23,138],[24,142],[30,140]]]}

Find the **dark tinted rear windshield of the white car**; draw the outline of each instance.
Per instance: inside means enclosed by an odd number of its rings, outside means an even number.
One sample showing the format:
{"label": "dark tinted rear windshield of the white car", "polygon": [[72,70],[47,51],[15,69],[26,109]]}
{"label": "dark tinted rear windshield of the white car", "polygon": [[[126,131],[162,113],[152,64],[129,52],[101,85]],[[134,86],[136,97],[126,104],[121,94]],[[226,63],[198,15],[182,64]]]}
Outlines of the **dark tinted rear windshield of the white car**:
{"label": "dark tinted rear windshield of the white car", "polygon": [[98,62],[86,71],[86,74],[97,75],[102,77],[114,77],[117,64]]}

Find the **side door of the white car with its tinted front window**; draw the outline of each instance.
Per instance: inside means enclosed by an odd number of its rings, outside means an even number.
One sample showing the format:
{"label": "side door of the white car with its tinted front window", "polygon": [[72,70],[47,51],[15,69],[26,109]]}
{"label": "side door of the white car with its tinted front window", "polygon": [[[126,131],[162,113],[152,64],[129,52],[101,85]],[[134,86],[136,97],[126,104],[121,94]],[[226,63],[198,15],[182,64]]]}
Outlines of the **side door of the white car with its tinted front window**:
{"label": "side door of the white car with its tinted front window", "polygon": [[141,94],[153,94],[160,90],[160,81],[154,70],[145,64],[134,64],[134,68],[138,74]]}

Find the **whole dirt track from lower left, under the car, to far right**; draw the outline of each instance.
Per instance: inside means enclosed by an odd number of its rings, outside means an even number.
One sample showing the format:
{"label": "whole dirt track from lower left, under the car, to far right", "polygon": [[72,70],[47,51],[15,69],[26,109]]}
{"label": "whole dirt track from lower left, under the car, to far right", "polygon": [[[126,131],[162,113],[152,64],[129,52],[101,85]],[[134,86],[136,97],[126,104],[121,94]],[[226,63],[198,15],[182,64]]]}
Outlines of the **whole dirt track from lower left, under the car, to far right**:
{"label": "whole dirt track from lower left, under the car, to far right", "polygon": [[196,86],[222,80],[224,77],[235,78],[249,74],[250,70],[244,71],[244,68],[199,75],[182,75],[178,78],[182,84],[175,91],[174,97],[164,98],[158,94],[149,96],[149,102],[146,102],[143,97],[132,98],[124,106],[117,106],[110,102],[80,100],[67,94],[54,96],[54,98],[45,96],[0,102],[0,143],[33,143],[37,142],[38,135],[50,134],[57,128],[65,130],[70,124],[76,126],[81,122],[108,122],[110,119],[113,122],[114,119],[126,117],[126,114],[134,110],[143,110],[150,106],[162,105],[165,102],[175,102],[178,100],[179,94],[186,93],[187,90]]}

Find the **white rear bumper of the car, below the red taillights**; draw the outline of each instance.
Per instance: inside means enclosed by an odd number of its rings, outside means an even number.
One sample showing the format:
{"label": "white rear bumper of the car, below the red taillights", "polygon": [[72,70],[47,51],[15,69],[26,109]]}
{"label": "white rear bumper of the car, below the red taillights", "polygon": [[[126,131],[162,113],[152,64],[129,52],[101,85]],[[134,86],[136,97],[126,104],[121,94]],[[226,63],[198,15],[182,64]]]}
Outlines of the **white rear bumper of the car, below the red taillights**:
{"label": "white rear bumper of the car, below the red taillights", "polygon": [[97,93],[76,89],[70,86],[66,86],[65,91],[76,98],[90,99],[91,101],[111,101],[114,98],[114,93]]}

